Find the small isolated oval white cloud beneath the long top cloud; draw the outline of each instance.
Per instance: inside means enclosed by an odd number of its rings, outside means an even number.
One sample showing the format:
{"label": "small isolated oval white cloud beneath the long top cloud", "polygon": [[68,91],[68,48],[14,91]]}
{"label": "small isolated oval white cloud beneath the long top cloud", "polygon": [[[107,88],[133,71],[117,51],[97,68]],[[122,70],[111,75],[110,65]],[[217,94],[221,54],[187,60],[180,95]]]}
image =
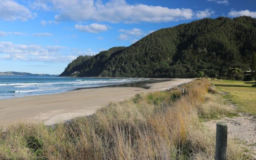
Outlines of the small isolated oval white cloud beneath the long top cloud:
{"label": "small isolated oval white cloud beneath the long top cloud", "polygon": [[99,33],[108,30],[104,24],[92,23],[90,25],[76,24],[75,28],[81,32]]}

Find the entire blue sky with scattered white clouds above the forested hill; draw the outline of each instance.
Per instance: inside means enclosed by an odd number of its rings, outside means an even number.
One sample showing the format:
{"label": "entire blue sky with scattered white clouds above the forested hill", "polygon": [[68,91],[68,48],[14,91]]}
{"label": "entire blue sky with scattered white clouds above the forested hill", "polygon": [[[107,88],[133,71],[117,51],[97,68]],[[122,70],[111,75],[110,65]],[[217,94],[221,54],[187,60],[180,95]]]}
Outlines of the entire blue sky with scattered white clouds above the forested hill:
{"label": "entire blue sky with scattered white clouds above the forested hill", "polygon": [[251,16],[256,0],[0,0],[0,72],[61,74],[80,55],[161,28]]}

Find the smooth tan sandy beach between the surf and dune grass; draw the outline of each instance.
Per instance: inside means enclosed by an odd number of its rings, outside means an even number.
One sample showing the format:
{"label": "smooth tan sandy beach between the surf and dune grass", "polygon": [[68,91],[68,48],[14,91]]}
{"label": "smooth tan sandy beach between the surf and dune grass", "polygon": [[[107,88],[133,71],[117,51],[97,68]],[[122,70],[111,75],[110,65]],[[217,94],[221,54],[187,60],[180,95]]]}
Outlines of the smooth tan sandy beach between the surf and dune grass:
{"label": "smooth tan sandy beach between the surf and dune grass", "polygon": [[74,117],[93,114],[109,102],[131,98],[137,93],[167,90],[192,79],[165,79],[169,81],[146,84],[150,89],[138,87],[90,88],[59,94],[26,96],[0,100],[0,126],[14,122],[55,124]]}

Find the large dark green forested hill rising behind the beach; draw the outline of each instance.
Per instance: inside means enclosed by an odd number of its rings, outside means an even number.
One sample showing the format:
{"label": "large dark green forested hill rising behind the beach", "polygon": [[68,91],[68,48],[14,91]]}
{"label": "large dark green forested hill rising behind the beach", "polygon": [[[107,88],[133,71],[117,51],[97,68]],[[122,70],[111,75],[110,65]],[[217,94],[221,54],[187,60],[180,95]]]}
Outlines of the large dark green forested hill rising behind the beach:
{"label": "large dark green forested hill rising behind the beach", "polygon": [[135,44],[79,56],[60,76],[192,78],[247,70],[256,51],[256,19],[205,18],[155,31]]}

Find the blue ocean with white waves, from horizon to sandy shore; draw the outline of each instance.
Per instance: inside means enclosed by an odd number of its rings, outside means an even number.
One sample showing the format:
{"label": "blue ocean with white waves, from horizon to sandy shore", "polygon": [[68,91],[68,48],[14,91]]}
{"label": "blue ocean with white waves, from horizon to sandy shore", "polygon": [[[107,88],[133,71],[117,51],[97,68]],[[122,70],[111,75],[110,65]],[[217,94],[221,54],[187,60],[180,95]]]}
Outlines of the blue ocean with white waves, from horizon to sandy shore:
{"label": "blue ocean with white waves, from horizon to sandy shore", "polygon": [[52,76],[0,76],[0,99],[56,94],[79,88],[96,88],[144,81],[142,78],[70,78]]}

